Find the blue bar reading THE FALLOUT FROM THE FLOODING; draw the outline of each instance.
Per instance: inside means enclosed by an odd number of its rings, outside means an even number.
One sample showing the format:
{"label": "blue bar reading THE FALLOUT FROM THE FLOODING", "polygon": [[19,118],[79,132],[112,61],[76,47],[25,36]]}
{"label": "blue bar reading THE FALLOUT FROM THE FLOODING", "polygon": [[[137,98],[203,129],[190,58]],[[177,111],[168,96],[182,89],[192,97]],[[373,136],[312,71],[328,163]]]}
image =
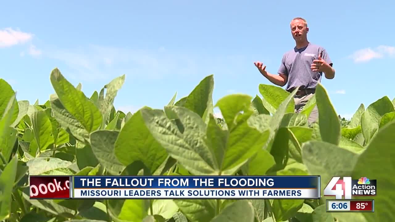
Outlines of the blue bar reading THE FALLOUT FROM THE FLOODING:
{"label": "blue bar reading THE FALLOUT FROM THE FLOODING", "polygon": [[319,176],[73,176],[74,188],[319,188]]}

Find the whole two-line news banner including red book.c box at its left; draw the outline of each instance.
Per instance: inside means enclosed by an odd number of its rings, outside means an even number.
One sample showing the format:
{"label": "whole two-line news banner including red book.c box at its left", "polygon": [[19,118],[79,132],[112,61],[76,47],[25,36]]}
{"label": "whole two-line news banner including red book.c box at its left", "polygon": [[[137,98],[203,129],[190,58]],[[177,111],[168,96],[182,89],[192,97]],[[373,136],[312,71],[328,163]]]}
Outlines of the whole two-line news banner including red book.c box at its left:
{"label": "whole two-line news banner including red book.c box at its left", "polygon": [[319,199],[320,176],[30,176],[30,199]]}

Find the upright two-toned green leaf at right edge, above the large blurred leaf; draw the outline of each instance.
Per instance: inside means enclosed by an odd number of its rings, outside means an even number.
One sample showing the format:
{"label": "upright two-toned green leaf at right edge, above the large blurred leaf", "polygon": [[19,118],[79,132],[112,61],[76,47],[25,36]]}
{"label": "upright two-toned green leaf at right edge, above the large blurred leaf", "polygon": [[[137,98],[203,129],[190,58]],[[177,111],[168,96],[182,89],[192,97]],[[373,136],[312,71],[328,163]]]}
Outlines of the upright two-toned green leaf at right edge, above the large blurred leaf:
{"label": "upright two-toned green leaf at right edge, above the large blurred leaf", "polygon": [[394,106],[387,96],[380,98],[366,108],[365,112],[361,115],[361,127],[363,137],[367,143],[370,142],[376,133],[381,118],[386,113],[394,111]]}

